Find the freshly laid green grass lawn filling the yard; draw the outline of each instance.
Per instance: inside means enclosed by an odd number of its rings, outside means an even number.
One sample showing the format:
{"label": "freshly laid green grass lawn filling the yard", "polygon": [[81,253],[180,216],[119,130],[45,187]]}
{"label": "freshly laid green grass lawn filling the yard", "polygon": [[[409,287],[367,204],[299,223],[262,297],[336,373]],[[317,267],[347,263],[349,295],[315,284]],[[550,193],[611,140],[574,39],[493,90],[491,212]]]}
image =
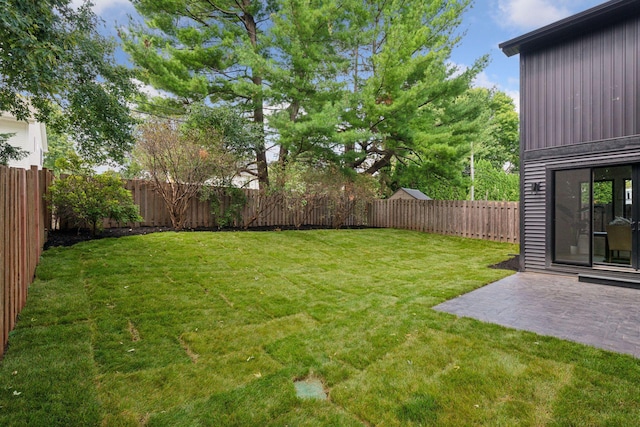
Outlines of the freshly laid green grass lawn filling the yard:
{"label": "freshly laid green grass lawn filling the yard", "polygon": [[[431,309],[515,250],[398,230],[48,250],[0,425],[639,425],[639,360]],[[303,378],[328,399],[297,398]]]}

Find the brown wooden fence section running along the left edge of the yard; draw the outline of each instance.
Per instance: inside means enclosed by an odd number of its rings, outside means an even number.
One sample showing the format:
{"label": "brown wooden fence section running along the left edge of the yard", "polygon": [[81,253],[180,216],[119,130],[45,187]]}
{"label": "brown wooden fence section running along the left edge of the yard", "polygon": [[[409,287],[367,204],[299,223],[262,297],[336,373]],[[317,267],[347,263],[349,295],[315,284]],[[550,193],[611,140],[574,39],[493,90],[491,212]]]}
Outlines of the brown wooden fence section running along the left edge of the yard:
{"label": "brown wooden fence section running along the left edge of the yard", "polygon": [[27,301],[38,259],[51,227],[44,194],[47,170],[0,166],[0,356]]}

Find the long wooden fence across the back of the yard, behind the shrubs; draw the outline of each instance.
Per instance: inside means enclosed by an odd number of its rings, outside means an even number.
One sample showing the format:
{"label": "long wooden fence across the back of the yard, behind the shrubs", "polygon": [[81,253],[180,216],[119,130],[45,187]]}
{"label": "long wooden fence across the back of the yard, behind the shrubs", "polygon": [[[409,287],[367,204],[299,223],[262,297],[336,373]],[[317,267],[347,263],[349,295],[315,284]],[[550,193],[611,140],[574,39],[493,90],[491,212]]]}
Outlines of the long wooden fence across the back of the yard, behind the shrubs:
{"label": "long wooden fence across the back of the yard, behind the shrubs", "polygon": [[[169,212],[149,181],[130,180],[134,202],[140,206],[144,222],[135,226],[171,227]],[[518,202],[376,200],[358,204],[350,200],[327,198],[287,198],[282,194],[266,195],[257,190],[243,190],[245,202],[231,225],[253,227],[337,227],[368,226],[400,228],[475,239],[517,243],[520,238]],[[231,207],[229,196],[222,197],[220,211]],[[186,227],[219,226],[210,201],[191,200]],[[106,221],[105,227],[119,227]]]}

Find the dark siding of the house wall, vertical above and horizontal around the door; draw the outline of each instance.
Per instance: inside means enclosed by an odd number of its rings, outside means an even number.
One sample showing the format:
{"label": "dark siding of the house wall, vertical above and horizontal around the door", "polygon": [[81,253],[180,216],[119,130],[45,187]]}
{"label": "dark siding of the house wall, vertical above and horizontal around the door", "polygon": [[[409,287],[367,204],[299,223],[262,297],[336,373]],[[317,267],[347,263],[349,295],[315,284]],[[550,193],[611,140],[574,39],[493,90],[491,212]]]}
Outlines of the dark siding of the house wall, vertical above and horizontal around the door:
{"label": "dark siding of the house wall, vertical above and horizontal around the door", "polygon": [[[523,258],[525,269],[552,262],[547,174],[555,169],[640,162],[640,17],[612,22],[520,55]],[[598,143],[610,141],[606,150]],[[594,145],[591,145],[593,143]],[[565,157],[553,154],[562,147]],[[560,150],[556,150],[558,153]],[[527,161],[527,155],[535,159]],[[546,183],[531,191],[534,182]],[[549,208],[551,209],[551,208]]]}

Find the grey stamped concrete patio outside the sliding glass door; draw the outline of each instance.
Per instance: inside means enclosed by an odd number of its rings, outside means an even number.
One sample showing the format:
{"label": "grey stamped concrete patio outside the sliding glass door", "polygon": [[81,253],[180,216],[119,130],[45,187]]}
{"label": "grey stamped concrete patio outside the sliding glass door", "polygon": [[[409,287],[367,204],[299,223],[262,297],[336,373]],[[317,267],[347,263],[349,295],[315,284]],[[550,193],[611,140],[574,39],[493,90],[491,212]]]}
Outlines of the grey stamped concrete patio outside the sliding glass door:
{"label": "grey stamped concrete patio outside the sliding glass door", "polygon": [[640,357],[640,290],[516,273],[434,307]]}

